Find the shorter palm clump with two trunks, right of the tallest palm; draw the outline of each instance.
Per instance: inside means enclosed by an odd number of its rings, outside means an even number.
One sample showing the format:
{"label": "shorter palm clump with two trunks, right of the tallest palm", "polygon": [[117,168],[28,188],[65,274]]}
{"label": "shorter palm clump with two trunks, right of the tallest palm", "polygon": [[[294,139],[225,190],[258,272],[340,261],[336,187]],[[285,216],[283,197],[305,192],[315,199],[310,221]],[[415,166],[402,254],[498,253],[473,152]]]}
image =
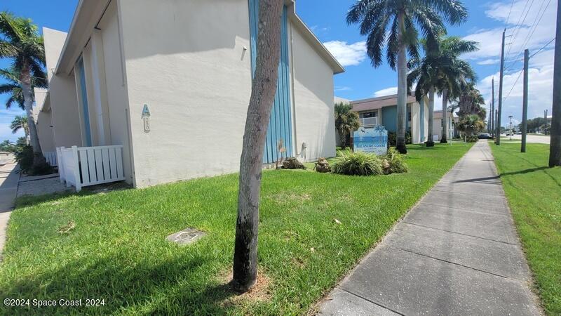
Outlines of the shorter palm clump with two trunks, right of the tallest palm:
{"label": "shorter palm clump with two trunks, right of the tallest palm", "polygon": [[[441,94],[444,98],[448,98],[448,91],[452,89],[456,95],[459,95],[463,86],[468,84],[466,79],[474,79],[475,73],[471,66],[458,59],[459,55],[478,50],[478,44],[475,41],[464,41],[459,37],[443,37],[438,36],[437,43],[428,46],[428,41],[423,40],[424,57],[412,58],[407,67],[410,69],[407,74],[407,86],[415,87],[415,97],[421,100],[423,96],[428,96],[428,141],[427,147],[434,146],[433,142],[433,117],[434,117],[434,99],[435,92]],[[455,68],[454,68],[455,67]],[[448,111],[444,109],[447,100],[442,100],[443,113]],[[445,124],[446,117],[443,116]],[[446,137],[447,126],[443,126],[442,136]],[[446,140],[445,140],[446,141]]]}

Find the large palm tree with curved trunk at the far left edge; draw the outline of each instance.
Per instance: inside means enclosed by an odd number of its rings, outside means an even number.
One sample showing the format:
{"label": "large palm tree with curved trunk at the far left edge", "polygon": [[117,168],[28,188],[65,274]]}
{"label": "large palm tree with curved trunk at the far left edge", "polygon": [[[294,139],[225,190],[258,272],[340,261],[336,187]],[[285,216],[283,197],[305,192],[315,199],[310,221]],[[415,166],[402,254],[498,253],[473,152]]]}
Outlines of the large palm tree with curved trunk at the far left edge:
{"label": "large palm tree with curved trunk at the far left edge", "polygon": [[46,164],[32,114],[33,77],[44,79],[45,50],[43,37],[31,20],[16,18],[11,13],[0,13],[0,58],[11,60],[12,69],[19,73],[23,105],[29,124],[29,136],[33,147],[33,166]]}

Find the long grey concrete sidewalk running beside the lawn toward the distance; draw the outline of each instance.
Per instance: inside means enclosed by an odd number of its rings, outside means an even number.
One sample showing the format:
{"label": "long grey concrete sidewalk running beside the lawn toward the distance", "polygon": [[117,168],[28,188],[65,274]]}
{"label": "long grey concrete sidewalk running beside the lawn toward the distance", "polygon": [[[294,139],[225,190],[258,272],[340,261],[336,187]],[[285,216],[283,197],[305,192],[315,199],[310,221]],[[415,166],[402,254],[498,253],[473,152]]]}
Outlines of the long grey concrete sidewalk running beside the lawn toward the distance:
{"label": "long grey concrete sidewalk running beside the lawn toward the distance", "polygon": [[486,141],[323,301],[323,315],[539,315]]}

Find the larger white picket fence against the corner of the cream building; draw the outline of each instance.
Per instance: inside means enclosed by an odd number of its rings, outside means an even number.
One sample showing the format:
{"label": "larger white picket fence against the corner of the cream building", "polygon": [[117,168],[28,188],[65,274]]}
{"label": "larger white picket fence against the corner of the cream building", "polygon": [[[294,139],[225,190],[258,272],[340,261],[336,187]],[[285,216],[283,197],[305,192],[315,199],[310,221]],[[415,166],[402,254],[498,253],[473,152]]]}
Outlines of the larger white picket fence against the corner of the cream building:
{"label": "larger white picket fence against the corner of the cream building", "polygon": [[123,145],[98,147],[58,147],[60,182],[74,185],[76,192],[88,185],[125,180]]}

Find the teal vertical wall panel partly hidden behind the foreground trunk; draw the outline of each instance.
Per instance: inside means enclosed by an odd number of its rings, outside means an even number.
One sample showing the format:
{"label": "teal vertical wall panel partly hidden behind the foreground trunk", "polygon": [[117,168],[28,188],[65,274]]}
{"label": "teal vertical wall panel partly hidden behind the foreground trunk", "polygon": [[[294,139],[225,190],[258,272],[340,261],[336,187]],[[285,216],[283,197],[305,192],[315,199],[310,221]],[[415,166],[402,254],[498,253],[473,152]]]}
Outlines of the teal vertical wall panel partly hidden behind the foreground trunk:
{"label": "teal vertical wall panel partly hidden behind the foreground trunk", "polygon": [[[257,60],[257,28],[259,20],[259,0],[249,0],[250,8],[250,43],[251,69],[255,76]],[[275,103],[271,110],[271,119],[267,128],[263,163],[270,164],[278,160],[278,141],[283,140],[286,152],[283,157],[292,157],[292,107],[290,102],[290,72],[288,57],[288,18],[287,8],[283,8],[283,20],[280,33],[280,62],[278,63],[278,86]]]}

